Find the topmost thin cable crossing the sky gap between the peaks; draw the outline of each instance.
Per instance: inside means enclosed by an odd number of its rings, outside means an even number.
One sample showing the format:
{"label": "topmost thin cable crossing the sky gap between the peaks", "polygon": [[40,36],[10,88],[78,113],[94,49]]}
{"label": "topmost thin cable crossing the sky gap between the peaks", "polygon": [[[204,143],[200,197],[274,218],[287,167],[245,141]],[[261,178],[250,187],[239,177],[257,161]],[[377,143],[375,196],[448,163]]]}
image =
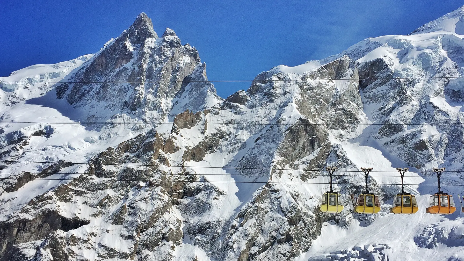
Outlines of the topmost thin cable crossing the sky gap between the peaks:
{"label": "topmost thin cable crossing the sky gap between the peaks", "polygon": [[397,79],[443,79],[464,78],[464,76],[423,76],[396,78],[321,78],[321,79],[265,79],[265,80],[203,80],[203,81],[89,81],[89,82],[0,82],[0,84],[103,84],[103,83],[220,83],[220,82],[290,82],[290,81],[335,81],[335,80],[397,80]]}

